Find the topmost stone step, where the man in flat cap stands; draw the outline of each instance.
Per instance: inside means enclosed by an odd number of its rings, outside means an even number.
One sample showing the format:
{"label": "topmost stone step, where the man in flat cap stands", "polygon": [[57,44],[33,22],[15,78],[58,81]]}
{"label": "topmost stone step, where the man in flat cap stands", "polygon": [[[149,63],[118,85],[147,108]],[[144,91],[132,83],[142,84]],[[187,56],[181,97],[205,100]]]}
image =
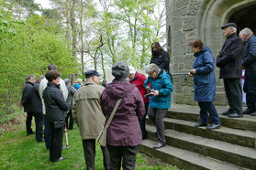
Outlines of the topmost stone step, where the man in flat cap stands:
{"label": "topmost stone step, where the man in flat cap stands", "polygon": [[[256,116],[244,115],[242,118],[228,118],[228,116],[221,115],[221,112],[224,111],[227,111],[227,109],[217,107],[218,116],[222,125],[256,132]],[[166,117],[198,122],[199,107],[174,104],[173,107],[168,110]]]}

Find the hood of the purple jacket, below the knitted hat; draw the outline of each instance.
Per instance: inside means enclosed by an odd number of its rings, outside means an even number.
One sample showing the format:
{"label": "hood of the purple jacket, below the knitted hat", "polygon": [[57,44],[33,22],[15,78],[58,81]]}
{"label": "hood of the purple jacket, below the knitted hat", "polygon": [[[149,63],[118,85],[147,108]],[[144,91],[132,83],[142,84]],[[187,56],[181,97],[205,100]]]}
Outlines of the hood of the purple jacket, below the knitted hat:
{"label": "hood of the purple jacket, below the knitted hat", "polygon": [[113,80],[110,84],[106,86],[106,94],[111,96],[111,98],[120,99],[131,92],[135,86],[130,84],[128,80]]}

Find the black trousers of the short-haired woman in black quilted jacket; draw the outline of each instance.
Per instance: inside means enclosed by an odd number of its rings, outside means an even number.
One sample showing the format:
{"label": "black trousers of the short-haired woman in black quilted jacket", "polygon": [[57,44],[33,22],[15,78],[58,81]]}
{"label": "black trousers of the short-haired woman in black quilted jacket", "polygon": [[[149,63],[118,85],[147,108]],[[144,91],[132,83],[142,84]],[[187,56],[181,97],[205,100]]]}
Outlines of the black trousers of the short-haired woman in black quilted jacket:
{"label": "black trousers of the short-haired woman in black quilted jacket", "polygon": [[50,124],[50,161],[56,161],[61,157],[61,147],[63,140],[64,126],[54,128],[53,122]]}

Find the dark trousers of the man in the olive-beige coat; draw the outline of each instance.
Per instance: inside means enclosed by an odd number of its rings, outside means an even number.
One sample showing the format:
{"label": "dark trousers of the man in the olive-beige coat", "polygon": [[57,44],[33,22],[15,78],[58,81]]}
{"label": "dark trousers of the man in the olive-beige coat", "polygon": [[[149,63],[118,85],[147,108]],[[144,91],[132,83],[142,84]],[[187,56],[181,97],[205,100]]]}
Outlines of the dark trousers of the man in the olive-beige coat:
{"label": "dark trousers of the man in the olive-beige coat", "polygon": [[[83,139],[83,154],[86,170],[95,170],[95,139]],[[107,147],[101,146],[103,154],[103,164],[105,169],[109,169],[110,157]]]}

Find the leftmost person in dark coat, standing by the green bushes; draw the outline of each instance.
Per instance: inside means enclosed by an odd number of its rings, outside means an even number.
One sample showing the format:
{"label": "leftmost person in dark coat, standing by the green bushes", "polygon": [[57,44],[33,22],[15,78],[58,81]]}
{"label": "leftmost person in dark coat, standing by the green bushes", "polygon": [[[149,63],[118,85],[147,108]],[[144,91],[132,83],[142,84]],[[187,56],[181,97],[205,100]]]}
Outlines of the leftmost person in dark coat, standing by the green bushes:
{"label": "leftmost person in dark coat, standing by the green bushes", "polygon": [[24,107],[24,112],[27,112],[26,130],[27,135],[34,134],[31,128],[31,123],[35,113],[33,112],[33,105],[31,103],[31,92],[35,83],[35,75],[28,75],[26,84],[22,90],[21,105]]}

